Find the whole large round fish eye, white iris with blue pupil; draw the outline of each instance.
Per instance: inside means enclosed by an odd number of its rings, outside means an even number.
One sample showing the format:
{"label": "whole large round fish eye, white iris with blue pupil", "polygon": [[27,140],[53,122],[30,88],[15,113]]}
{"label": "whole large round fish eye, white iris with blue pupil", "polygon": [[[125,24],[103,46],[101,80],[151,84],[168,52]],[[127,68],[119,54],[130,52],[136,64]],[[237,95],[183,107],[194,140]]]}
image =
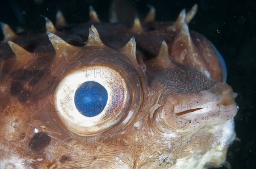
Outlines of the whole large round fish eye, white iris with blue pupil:
{"label": "whole large round fish eye, white iris with blue pupil", "polygon": [[106,66],[74,70],[55,90],[57,113],[70,131],[82,136],[97,135],[119,122],[126,124],[135,112],[132,86],[137,87],[137,82],[127,84],[122,72]]}

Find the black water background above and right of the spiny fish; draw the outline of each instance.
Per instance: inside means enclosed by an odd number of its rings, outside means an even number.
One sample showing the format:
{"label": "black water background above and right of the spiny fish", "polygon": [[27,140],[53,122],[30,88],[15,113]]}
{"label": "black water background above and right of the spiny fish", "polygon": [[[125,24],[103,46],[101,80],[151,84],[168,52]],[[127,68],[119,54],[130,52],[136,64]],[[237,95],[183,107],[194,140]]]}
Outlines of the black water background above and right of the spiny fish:
{"label": "black water background above and right of the spiny fish", "polygon": [[[176,20],[183,8],[188,11],[194,3],[198,4],[198,13],[189,24],[189,28],[203,34],[215,44],[227,64],[227,83],[239,94],[236,98],[239,111],[235,117],[235,123],[237,137],[241,141],[235,141],[230,146],[227,161],[233,169],[255,169],[256,1],[134,0],[129,2],[134,6],[134,10],[137,10],[141,20],[148,12],[146,5],[153,5],[157,11],[158,21]],[[123,3],[118,7],[127,12],[127,20],[134,17],[134,13],[129,11],[129,4]],[[55,23],[55,12],[61,9],[68,23],[82,23],[88,20],[90,5],[93,5],[102,21],[108,22],[110,6],[108,0],[44,0],[41,5],[34,0],[6,0],[0,2],[0,21],[8,23],[14,30],[17,26],[31,30],[44,30],[45,21],[39,16],[40,14]],[[0,39],[3,39],[2,35]]]}

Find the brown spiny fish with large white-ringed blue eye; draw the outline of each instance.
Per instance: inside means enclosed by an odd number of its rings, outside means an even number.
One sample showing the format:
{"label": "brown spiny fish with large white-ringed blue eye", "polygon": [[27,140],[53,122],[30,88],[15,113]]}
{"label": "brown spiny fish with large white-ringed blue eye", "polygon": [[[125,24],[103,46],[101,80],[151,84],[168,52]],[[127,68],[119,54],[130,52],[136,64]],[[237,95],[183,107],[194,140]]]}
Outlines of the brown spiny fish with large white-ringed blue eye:
{"label": "brown spiny fish with large white-ringed blue eye", "polygon": [[[36,44],[34,51],[25,50],[26,43],[22,48],[8,41],[6,48],[3,42],[1,166],[137,169],[224,163],[236,137],[235,94],[224,82],[218,51],[189,32],[184,20],[182,11],[175,23],[151,23],[156,30],[165,28],[145,33],[148,23],[142,27],[136,18],[125,30],[135,37],[119,49],[112,48],[117,42],[102,42],[100,36],[111,33],[106,25],[103,30],[99,25],[99,32],[92,25],[83,46],[64,41],[61,37],[69,37],[52,25],[40,42],[27,42]],[[184,42],[190,35],[196,39]],[[152,37],[163,40],[154,43]],[[72,38],[79,42],[80,37]],[[150,55],[157,54],[145,59],[149,45]]]}

